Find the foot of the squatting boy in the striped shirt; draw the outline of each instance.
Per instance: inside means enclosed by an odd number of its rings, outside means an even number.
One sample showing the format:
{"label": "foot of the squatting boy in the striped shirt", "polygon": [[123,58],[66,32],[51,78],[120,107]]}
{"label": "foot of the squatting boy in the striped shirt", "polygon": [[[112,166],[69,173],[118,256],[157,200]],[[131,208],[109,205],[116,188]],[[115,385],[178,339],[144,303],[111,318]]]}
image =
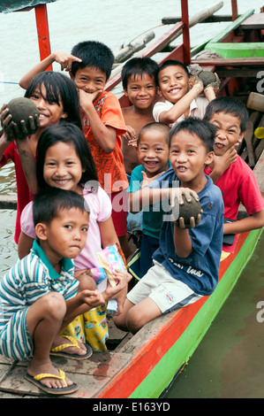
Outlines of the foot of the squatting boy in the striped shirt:
{"label": "foot of the squatting boy in the striped shirt", "polygon": [[[32,358],[29,366],[27,367],[27,374],[31,375],[32,377],[35,377],[38,374],[54,374],[56,376],[60,375],[57,368],[52,365],[50,360],[46,362],[40,362],[35,358]],[[68,377],[65,377],[65,381],[68,386],[72,386],[73,383]],[[54,379],[52,377],[44,377],[40,382],[43,384],[43,386],[46,386],[49,389],[64,389],[67,387],[65,386],[63,380]]]}

